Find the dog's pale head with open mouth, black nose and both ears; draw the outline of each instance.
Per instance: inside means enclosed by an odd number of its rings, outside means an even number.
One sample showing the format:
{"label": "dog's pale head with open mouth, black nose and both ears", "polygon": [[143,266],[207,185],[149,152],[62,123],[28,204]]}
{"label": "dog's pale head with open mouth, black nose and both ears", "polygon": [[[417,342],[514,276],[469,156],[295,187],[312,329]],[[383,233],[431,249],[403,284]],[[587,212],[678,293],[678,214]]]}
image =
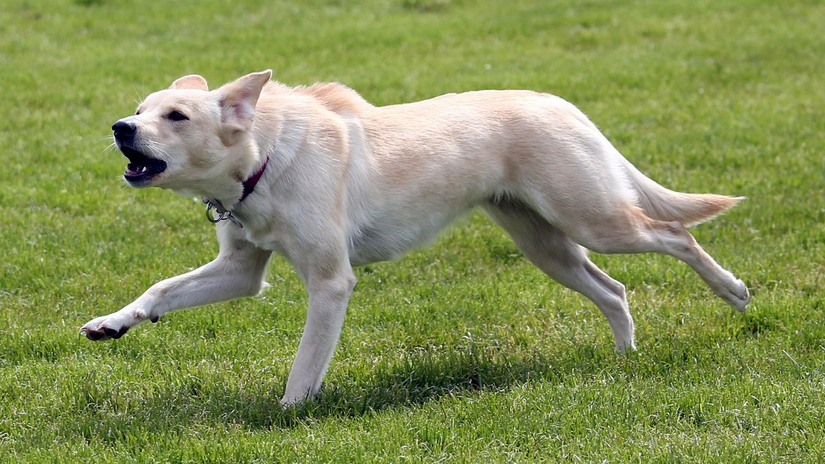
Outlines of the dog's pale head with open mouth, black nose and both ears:
{"label": "dog's pale head with open mouth, black nose and both ears", "polygon": [[192,74],[146,97],[133,116],[111,126],[129,159],[132,187],[202,191],[202,184],[238,177],[256,154],[250,137],[255,106],[272,72],[238,78],[213,91]]}

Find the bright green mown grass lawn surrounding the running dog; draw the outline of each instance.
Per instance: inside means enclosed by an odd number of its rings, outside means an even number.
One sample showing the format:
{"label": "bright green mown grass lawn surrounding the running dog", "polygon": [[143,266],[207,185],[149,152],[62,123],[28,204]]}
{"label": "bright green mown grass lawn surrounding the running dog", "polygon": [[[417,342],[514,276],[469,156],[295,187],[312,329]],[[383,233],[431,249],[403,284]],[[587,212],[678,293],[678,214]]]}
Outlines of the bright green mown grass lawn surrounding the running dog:
{"label": "bright green mown grass lawn surrounding the running dog", "polygon": [[[0,462],[809,461],[825,458],[822,2],[134,2],[0,6]],[[639,352],[475,214],[357,271],[322,395],[277,400],[306,295],[78,335],[209,261],[200,204],[134,191],[103,152],[134,100],[186,73],[272,68],[376,104],[532,88],[577,104],[644,172],[747,195],[695,228],[745,315],[683,263],[595,256]]]}

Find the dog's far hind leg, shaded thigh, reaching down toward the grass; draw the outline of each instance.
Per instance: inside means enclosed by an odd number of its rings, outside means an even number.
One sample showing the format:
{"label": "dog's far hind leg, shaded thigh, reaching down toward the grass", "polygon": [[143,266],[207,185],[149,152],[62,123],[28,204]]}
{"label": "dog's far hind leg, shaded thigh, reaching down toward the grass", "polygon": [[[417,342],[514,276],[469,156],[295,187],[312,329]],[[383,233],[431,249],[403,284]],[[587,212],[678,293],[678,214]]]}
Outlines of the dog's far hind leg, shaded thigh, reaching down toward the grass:
{"label": "dog's far hind leg, shaded thigh, reaching down toward the grass", "polygon": [[531,263],[596,304],[610,323],[616,349],[636,348],[625,286],[597,268],[581,245],[517,201],[497,201],[483,208]]}

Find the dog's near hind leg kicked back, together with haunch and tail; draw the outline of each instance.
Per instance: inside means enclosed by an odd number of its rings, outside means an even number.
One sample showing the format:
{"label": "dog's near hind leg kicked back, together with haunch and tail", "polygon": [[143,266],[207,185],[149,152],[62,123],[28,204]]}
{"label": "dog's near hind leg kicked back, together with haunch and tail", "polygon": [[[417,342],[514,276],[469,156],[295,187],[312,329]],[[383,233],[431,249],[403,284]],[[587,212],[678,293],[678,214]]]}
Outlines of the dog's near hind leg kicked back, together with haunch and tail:
{"label": "dog's near hind leg kicked back, together with haunch and tail", "polygon": [[744,310],[750,301],[747,287],[685,228],[727,211],[739,198],[662,187],[594,130],[581,130],[567,144],[551,144],[541,152],[553,156],[528,156],[531,163],[514,176],[512,192],[577,244],[598,253],[652,252],[681,259],[716,295]]}

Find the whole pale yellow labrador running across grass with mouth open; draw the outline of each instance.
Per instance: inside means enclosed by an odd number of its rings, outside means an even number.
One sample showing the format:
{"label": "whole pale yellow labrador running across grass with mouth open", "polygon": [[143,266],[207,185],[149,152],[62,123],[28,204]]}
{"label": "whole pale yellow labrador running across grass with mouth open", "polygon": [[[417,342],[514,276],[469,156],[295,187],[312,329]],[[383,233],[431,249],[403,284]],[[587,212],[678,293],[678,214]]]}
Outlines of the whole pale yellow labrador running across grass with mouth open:
{"label": "whole pale yellow labrador running across grass with mouth open", "polygon": [[220,252],[89,321],[87,338],[256,295],[275,251],[309,291],[282,401],[311,398],[341,332],[352,267],[397,258],[474,206],[549,277],[591,299],[619,350],[635,348],[625,286],[586,249],[669,254],[737,310],[750,299],[686,230],[738,198],[658,185],[559,97],[483,91],[374,107],[337,83],[290,88],[270,78],[251,73],[210,91],[185,76],[112,126],[129,159],[126,182],[202,197]]}

